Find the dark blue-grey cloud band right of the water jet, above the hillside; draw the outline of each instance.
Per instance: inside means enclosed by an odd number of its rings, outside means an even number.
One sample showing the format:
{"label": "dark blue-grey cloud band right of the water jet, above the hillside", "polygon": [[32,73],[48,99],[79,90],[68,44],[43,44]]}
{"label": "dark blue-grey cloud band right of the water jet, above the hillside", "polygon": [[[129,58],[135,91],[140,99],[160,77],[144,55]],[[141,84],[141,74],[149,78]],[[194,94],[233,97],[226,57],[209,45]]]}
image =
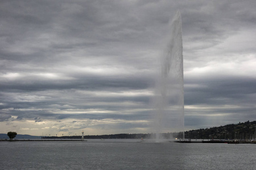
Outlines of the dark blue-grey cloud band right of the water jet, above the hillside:
{"label": "dark blue-grey cloud band right of the water jet, above the hillside", "polygon": [[[255,94],[256,80],[239,76],[229,76],[215,79],[185,80],[186,84],[200,84],[200,86],[185,87],[185,104],[238,104]],[[239,100],[238,100],[239,99]],[[250,100],[251,101],[251,100]]]}

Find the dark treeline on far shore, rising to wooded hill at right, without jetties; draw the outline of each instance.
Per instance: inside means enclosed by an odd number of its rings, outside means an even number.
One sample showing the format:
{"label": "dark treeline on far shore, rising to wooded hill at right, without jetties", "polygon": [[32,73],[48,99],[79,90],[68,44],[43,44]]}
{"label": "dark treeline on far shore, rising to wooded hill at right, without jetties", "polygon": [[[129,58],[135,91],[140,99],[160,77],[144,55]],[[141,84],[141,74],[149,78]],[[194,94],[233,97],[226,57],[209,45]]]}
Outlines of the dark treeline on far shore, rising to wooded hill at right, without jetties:
{"label": "dark treeline on far shore, rising to wooded hill at right, without jetties", "polygon": [[[186,139],[253,139],[255,138],[256,121],[230,124],[225,126],[185,131]],[[182,138],[183,133],[162,133],[164,139]],[[81,139],[81,135],[52,136],[43,139]],[[109,134],[109,135],[84,135],[85,139],[150,139],[155,138],[154,133],[147,134]]]}

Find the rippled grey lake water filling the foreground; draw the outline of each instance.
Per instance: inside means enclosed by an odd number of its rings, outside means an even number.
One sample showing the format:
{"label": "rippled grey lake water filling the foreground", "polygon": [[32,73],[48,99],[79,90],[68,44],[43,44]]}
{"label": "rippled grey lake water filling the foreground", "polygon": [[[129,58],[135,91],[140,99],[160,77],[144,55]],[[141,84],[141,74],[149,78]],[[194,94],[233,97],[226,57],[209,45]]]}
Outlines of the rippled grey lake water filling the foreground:
{"label": "rippled grey lake water filling the foreground", "polygon": [[139,140],[0,142],[0,169],[256,169],[256,145]]}

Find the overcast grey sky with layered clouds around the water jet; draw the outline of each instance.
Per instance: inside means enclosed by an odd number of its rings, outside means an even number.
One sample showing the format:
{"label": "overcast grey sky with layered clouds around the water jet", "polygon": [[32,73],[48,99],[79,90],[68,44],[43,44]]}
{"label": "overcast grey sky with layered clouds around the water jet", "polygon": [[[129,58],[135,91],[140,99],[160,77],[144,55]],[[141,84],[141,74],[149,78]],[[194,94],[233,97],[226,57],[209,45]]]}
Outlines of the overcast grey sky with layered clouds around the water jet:
{"label": "overcast grey sky with layered clouds around the water jet", "polygon": [[254,0],[0,4],[0,133],[151,133],[178,10],[185,130],[256,120]]}

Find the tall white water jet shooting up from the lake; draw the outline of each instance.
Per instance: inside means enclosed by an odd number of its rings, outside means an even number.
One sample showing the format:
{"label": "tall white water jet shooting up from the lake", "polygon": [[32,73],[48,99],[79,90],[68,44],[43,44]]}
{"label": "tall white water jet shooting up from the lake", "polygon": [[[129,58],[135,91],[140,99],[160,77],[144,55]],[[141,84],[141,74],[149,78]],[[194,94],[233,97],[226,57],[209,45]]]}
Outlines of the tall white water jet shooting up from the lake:
{"label": "tall white water jet shooting up from the lake", "polygon": [[155,88],[156,142],[160,133],[179,132],[184,139],[184,80],[181,15],[177,11],[166,37],[166,49],[161,58],[161,71]]}

